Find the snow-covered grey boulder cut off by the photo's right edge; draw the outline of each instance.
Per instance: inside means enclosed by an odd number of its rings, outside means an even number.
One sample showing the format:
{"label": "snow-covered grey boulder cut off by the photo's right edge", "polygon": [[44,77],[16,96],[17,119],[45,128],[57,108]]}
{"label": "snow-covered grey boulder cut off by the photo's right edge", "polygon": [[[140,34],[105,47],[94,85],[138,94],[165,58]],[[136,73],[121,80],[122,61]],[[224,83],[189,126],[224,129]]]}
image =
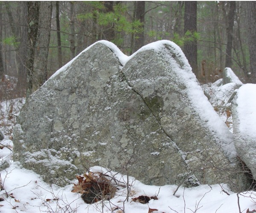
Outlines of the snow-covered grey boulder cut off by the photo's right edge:
{"label": "snow-covered grey boulder cut off by the photo's right edge", "polygon": [[256,179],[256,84],[241,86],[233,100],[233,134],[235,146],[242,161]]}

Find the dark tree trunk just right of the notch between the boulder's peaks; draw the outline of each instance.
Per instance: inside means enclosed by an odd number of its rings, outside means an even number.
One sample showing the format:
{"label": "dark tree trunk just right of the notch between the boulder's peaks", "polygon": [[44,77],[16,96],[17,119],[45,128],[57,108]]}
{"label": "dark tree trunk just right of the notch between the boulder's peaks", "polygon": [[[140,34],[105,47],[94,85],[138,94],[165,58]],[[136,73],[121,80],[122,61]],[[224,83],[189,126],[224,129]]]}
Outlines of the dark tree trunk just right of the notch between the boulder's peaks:
{"label": "dark tree trunk just right of the notch between the boulder's peaks", "polygon": [[144,46],[145,1],[136,1],[136,20],[142,23],[142,31],[135,35],[134,49],[137,51]]}

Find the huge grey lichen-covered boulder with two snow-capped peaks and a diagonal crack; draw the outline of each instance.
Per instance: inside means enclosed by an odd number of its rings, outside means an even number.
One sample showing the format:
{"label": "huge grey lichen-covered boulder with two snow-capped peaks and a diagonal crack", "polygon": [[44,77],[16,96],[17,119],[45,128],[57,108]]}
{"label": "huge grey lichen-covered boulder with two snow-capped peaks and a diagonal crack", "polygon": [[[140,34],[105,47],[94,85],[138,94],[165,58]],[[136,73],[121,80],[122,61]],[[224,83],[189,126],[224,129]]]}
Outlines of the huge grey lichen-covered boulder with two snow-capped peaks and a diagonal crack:
{"label": "huge grey lichen-covered boulder with two snow-capped peaks and a diagonal crack", "polygon": [[100,165],[145,184],[245,189],[232,141],[178,46],[160,41],[127,57],[100,41],[28,98],[14,159],[58,185]]}

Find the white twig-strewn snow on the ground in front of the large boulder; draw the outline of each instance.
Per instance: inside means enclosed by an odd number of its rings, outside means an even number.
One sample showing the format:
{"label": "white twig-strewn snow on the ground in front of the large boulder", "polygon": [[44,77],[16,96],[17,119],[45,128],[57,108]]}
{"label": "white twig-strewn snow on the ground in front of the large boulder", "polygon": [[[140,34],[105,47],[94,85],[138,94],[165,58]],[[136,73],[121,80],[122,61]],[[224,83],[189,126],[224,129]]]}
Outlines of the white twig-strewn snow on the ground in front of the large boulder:
{"label": "white twig-strewn snow on the ground in front of the large boulder", "polygon": [[[124,176],[124,179],[126,177]],[[148,186],[140,181],[132,181],[131,197],[125,201],[127,190],[120,188],[110,201],[99,201],[85,204],[77,193],[72,193],[72,185],[67,187],[50,186],[32,171],[22,169],[19,164],[12,163],[9,168],[1,171],[1,180],[5,190],[1,191],[0,211],[9,212],[77,212],[77,213],[120,213],[125,205],[125,213],[148,213],[148,209],[158,209],[154,213],[239,213],[256,209],[256,194],[253,192],[231,192],[227,185],[201,185],[193,188],[165,185],[162,187]],[[74,181],[76,182],[76,181]],[[7,197],[6,194],[9,196]],[[229,194],[229,195],[228,195]],[[148,204],[131,201],[140,195],[155,196]],[[239,197],[239,202],[238,202]],[[124,202],[125,201],[125,202]],[[125,203],[125,204],[124,204]],[[239,203],[239,205],[238,205]],[[119,209],[116,209],[119,207]],[[116,209],[116,210],[114,210]]]}

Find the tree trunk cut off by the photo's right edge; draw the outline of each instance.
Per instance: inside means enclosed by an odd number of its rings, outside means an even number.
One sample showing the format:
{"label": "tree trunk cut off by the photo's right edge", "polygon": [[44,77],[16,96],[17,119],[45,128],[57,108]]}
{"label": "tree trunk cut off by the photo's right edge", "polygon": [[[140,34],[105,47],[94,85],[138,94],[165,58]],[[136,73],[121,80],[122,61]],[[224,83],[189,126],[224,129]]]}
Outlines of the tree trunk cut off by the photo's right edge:
{"label": "tree trunk cut off by the photo's right edge", "polygon": [[250,54],[250,83],[256,83],[256,1],[248,1],[248,46]]}

